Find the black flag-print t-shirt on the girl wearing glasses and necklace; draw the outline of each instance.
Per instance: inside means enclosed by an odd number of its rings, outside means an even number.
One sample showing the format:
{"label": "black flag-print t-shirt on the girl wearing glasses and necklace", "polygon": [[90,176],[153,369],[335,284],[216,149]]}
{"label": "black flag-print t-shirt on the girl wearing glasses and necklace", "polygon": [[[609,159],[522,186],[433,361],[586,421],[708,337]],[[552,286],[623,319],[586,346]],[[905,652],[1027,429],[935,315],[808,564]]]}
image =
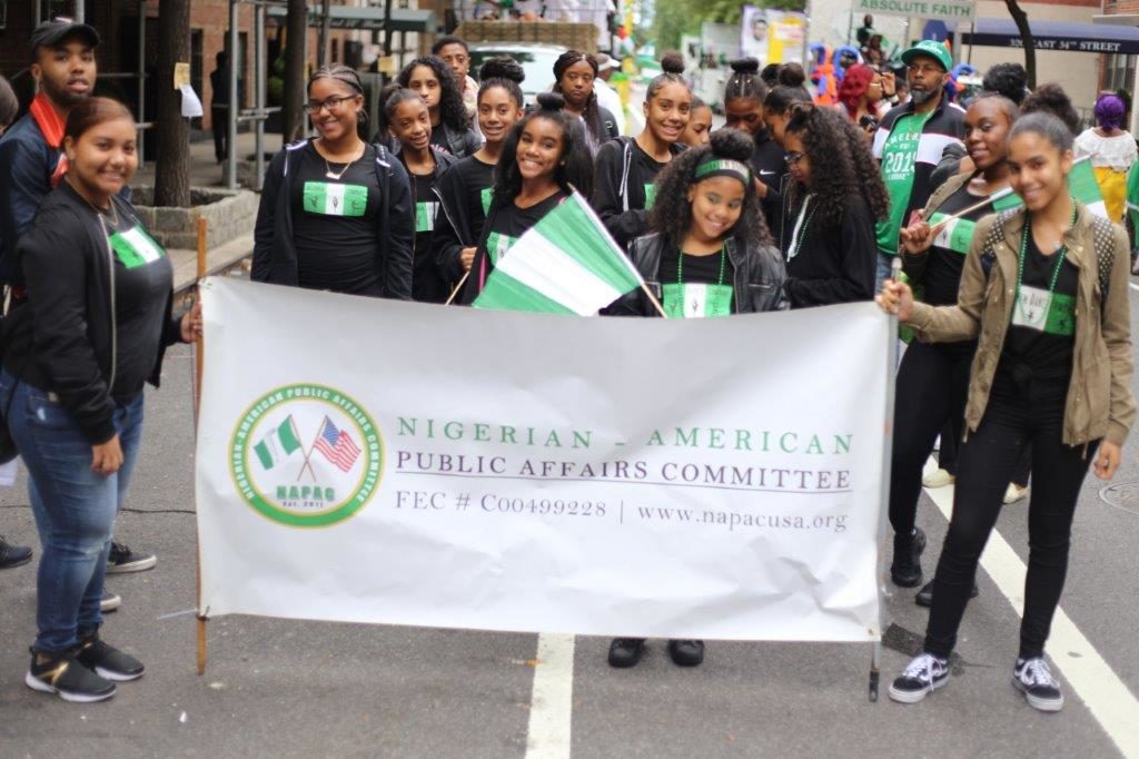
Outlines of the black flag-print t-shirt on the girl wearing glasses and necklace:
{"label": "black flag-print t-shirt on the girl wearing glasses and necklace", "polygon": [[[344,166],[333,169],[339,173]],[[380,197],[376,149],[367,146],[363,156],[339,179],[328,177],[328,171],[311,142],[302,148],[289,198],[297,284],[309,289],[378,296],[383,288],[376,228]]]}

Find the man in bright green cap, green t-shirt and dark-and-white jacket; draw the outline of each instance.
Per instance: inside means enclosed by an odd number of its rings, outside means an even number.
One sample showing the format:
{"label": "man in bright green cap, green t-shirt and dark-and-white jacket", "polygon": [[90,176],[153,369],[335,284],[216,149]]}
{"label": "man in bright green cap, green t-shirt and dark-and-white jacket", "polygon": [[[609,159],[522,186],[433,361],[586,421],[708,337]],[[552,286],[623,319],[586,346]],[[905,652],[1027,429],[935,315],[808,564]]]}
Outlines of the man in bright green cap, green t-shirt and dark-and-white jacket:
{"label": "man in bright green cap, green t-shirt and dark-and-white jacket", "polygon": [[910,214],[925,206],[933,191],[931,174],[950,145],[965,136],[965,112],[945,99],[945,82],[953,64],[941,42],[923,40],[902,54],[910,100],[882,120],[874,138],[874,157],[882,162],[882,178],[890,194],[890,217],[878,223],[878,277],[875,292],[890,276],[898,255],[901,228]]}

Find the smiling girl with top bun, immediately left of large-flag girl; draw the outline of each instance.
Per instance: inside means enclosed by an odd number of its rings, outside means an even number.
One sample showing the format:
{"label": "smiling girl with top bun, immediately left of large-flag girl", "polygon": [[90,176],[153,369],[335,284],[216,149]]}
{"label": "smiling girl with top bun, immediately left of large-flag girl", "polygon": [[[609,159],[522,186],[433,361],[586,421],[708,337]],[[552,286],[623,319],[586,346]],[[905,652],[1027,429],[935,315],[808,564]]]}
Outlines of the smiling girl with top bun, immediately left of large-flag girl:
{"label": "smiling girl with top bun, immediately left of large-flag girl", "polygon": [[432,248],[449,281],[460,281],[475,260],[475,245],[491,207],[494,166],[510,129],[525,113],[522,93],[525,72],[510,58],[491,58],[478,71],[478,129],[485,142],[474,155],[459,160],[435,186],[439,214]]}

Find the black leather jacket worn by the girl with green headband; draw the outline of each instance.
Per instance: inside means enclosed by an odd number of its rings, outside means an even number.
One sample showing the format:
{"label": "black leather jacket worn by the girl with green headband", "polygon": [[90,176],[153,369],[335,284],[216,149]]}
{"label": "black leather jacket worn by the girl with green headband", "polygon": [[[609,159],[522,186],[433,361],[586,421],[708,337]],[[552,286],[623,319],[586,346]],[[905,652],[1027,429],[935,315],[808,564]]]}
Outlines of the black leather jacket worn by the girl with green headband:
{"label": "black leather jacket worn by the girl with green headband", "polygon": [[[629,245],[629,258],[645,278],[653,295],[661,300],[661,256],[664,253],[664,239],[659,234],[638,237]],[[773,245],[761,245],[741,250],[736,238],[728,239],[728,259],[736,270],[735,304],[736,313],[759,313],[761,311],[782,311],[789,308],[784,296],[784,280],[787,271],[782,255]],[[656,307],[648,300],[645,292],[634,289],[624,295],[607,310],[615,316],[659,316]]]}

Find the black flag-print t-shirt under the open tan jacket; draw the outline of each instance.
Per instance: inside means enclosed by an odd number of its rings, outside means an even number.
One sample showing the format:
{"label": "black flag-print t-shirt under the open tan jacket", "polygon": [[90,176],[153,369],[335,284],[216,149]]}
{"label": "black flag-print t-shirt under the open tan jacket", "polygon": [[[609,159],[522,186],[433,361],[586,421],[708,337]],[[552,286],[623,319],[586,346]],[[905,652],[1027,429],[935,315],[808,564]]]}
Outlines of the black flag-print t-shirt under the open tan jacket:
{"label": "black flag-print t-shirt under the open tan jacket", "polygon": [[1044,255],[1029,235],[1024,277],[1013,303],[1013,317],[1001,351],[993,392],[1015,392],[1031,401],[1063,402],[1072,376],[1075,346],[1075,299],[1080,270],[1059,261],[1056,289],[1048,289],[1057,255]]}

